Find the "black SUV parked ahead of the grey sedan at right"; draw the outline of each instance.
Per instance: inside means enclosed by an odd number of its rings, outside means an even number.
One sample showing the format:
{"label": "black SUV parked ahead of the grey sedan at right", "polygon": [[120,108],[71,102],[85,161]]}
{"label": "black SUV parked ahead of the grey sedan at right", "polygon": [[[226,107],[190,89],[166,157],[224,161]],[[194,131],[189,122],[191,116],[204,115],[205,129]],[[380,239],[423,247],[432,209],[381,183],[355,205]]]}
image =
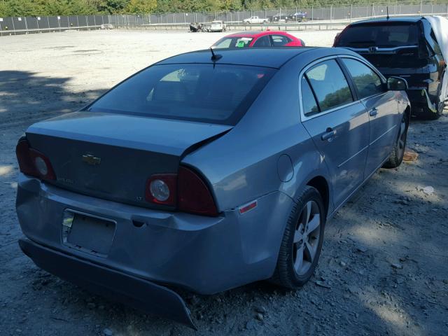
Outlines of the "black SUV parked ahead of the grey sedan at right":
{"label": "black SUV parked ahead of the grey sedan at right", "polygon": [[363,55],[386,78],[405,78],[412,115],[429,119],[442,115],[444,102],[440,102],[440,90],[446,64],[433,27],[426,18],[355,22],[336,36],[333,46]]}

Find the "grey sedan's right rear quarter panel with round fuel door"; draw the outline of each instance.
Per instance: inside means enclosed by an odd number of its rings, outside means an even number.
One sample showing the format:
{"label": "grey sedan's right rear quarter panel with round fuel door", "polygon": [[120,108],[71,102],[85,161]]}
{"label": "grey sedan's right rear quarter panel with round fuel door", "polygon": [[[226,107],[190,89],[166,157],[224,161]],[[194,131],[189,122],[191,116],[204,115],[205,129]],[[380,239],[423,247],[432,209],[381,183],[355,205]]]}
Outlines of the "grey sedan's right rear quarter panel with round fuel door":
{"label": "grey sedan's right rear quarter panel with round fuel door", "polygon": [[[304,63],[314,60],[312,55],[304,57],[307,53],[277,71],[230,132],[183,159],[208,179],[220,211],[277,190],[295,199],[314,176],[328,177],[321,156],[300,122],[298,75]],[[286,182],[278,172],[283,154],[289,156],[293,171]]]}

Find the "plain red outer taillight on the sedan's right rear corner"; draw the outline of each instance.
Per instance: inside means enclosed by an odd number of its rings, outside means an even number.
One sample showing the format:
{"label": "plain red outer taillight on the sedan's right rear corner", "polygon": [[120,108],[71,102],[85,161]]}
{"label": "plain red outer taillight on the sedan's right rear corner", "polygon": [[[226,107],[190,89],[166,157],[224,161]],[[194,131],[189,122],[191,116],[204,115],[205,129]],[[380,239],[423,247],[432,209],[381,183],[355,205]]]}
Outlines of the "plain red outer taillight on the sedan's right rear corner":
{"label": "plain red outer taillight on the sedan's right rear corner", "polygon": [[179,210],[207,216],[218,214],[209,188],[193,170],[179,167],[177,186]]}

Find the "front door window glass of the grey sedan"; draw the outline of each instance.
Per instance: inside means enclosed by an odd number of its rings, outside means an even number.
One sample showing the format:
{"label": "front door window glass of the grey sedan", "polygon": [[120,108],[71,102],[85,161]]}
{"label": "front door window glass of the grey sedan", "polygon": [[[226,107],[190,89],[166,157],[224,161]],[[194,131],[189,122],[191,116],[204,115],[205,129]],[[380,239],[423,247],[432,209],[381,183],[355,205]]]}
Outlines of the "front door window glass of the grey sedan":
{"label": "front door window glass of the grey sedan", "polygon": [[353,78],[360,99],[384,92],[381,78],[367,65],[349,58],[343,58],[342,62]]}

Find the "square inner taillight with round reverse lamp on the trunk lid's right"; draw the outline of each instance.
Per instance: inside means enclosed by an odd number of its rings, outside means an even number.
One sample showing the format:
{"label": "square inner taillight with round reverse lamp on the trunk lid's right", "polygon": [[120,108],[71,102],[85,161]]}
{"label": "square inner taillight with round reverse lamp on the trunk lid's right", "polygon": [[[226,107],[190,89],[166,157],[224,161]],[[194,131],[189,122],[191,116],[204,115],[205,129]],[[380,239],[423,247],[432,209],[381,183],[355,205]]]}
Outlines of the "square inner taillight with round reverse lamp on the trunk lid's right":
{"label": "square inner taillight with round reverse lamp on the trunk lid's right", "polygon": [[176,174],[156,174],[146,183],[146,200],[155,204],[176,205]]}

